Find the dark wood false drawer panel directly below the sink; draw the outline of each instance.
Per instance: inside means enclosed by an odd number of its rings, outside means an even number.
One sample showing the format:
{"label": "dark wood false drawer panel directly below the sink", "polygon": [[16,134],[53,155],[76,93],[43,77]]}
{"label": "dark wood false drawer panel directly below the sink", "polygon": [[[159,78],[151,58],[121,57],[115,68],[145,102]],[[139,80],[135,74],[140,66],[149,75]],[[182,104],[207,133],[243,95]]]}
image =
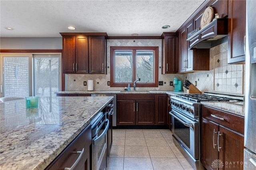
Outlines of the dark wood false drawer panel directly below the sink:
{"label": "dark wood false drawer panel directly below the sink", "polygon": [[[129,92],[127,92],[129,93]],[[118,94],[117,100],[154,100],[154,94]]]}

